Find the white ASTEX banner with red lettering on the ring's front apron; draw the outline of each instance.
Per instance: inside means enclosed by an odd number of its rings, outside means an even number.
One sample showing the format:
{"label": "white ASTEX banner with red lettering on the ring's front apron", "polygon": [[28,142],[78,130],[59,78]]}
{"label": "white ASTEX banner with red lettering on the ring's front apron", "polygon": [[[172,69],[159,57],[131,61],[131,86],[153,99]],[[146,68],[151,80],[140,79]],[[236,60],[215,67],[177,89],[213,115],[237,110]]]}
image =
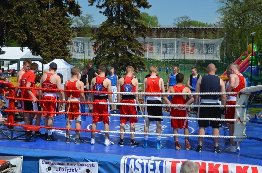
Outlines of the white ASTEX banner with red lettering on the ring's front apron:
{"label": "white ASTEX banner with red lettering on the ring's front apron", "polygon": [[[185,159],[171,159],[159,157],[141,157],[136,155],[124,156],[121,159],[121,173],[179,173]],[[257,165],[245,165],[237,163],[209,162],[192,160],[199,166],[200,173],[227,172],[227,173],[259,173],[262,167]]]}

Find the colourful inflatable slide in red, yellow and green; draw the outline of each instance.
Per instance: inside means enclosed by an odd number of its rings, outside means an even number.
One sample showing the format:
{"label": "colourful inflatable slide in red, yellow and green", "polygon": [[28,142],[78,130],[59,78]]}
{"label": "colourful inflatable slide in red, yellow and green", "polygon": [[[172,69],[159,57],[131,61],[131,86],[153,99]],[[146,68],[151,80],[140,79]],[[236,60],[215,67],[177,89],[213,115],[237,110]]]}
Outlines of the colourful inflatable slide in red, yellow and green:
{"label": "colourful inflatable slide in red, yellow and green", "polygon": [[[240,70],[240,73],[244,73],[248,68],[249,66],[252,65],[255,66],[257,65],[257,59],[258,59],[258,52],[257,52],[257,46],[254,44],[253,45],[253,58],[252,58],[252,62],[251,62],[251,54],[252,53],[249,53],[249,52],[252,52],[251,51],[251,44],[248,45],[248,51],[246,52],[243,52],[241,54],[241,56],[239,58],[237,58],[237,60],[234,62],[234,64],[238,65],[239,66],[239,70]],[[221,76],[220,78],[223,80],[223,81],[226,81],[228,79],[227,77],[227,71],[225,71]]]}

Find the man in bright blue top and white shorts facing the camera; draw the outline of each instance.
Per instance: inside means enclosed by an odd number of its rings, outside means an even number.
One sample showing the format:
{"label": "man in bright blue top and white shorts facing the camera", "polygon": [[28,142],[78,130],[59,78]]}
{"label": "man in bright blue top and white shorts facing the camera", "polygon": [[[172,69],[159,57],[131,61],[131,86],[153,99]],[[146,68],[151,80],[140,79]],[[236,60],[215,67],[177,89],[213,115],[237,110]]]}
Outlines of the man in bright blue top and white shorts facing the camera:
{"label": "man in bright blue top and white shorts facing the camera", "polygon": [[[107,75],[107,78],[111,81],[111,90],[112,92],[117,92],[117,83],[118,76],[115,73],[115,69],[113,67],[110,68],[110,73]],[[117,94],[112,94],[113,103],[117,102]],[[113,114],[117,114],[117,105],[113,105]]]}

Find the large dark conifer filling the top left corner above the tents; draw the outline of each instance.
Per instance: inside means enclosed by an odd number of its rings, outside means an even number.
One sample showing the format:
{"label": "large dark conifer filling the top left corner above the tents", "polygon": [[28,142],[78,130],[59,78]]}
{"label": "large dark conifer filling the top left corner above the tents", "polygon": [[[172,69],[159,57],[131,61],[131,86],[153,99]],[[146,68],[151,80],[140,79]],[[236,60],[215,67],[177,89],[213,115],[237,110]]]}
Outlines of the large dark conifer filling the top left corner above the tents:
{"label": "large dark conifer filling the top left corner above the tents", "polygon": [[[28,47],[44,62],[70,57],[67,45],[73,37],[69,14],[79,16],[80,6],[74,0],[10,0],[0,2],[0,47],[17,41]],[[0,53],[4,52],[0,48]]]}

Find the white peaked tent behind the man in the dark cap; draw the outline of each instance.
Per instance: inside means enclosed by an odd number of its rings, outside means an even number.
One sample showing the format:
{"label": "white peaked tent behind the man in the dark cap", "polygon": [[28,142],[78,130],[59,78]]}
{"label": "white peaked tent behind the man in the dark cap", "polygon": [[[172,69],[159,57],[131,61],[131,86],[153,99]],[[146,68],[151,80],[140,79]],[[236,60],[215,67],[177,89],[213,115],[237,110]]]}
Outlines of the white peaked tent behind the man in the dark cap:
{"label": "white peaked tent behind the man in the dark cap", "polygon": [[[71,69],[74,67],[73,65],[68,64],[63,59],[54,59],[51,62],[55,62],[57,64],[56,73],[62,74],[62,76],[63,76],[62,83],[65,83],[68,79],[71,78]],[[44,65],[44,70],[46,70],[47,72],[49,71],[49,65],[50,65],[51,62]]]}

